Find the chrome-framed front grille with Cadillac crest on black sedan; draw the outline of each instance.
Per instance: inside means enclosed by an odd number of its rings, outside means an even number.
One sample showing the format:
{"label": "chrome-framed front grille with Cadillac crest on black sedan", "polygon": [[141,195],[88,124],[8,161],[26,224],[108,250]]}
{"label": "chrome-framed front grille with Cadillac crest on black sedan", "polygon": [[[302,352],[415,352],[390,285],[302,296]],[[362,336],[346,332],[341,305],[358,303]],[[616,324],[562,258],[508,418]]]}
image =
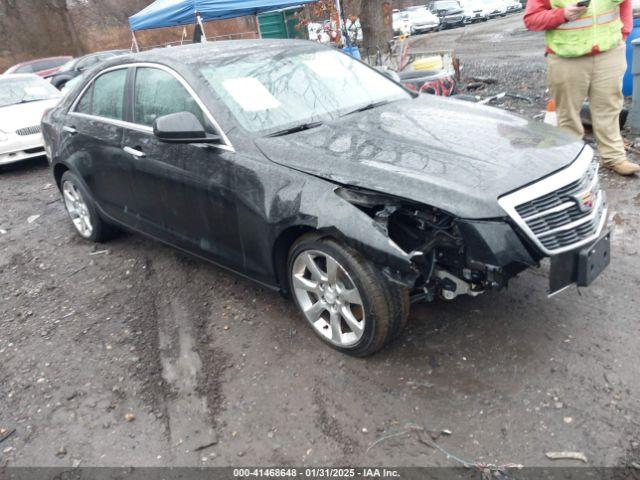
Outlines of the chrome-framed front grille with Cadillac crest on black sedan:
{"label": "chrome-framed front grille with Cadillac crest on black sedan", "polygon": [[567,169],[501,198],[500,204],[549,255],[595,240],[607,212],[590,148]]}

